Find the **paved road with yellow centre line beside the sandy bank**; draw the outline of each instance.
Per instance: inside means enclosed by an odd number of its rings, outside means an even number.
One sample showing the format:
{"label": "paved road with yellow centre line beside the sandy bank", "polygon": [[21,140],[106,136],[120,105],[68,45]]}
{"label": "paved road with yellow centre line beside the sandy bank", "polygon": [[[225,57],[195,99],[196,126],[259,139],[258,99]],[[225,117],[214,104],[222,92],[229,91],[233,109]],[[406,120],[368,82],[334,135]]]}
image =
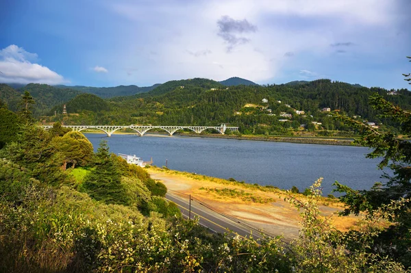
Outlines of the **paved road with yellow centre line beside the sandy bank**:
{"label": "paved road with yellow centre line beside the sandy bank", "polygon": [[[166,194],[166,198],[177,204],[180,211],[182,211],[183,216],[188,218],[190,214],[188,196],[184,197],[168,193]],[[235,222],[236,220],[234,218],[229,219],[208,207],[210,206],[203,204],[200,201],[191,200],[191,218],[194,218],[194,216],[199,217],[199,224],[205,226],[213,233],[230,232],[232,235],[240,235],[241,237],[247,238],[252,234],[253,238],[256,240],[262,239],[262,236],[257,229],[252,229],[247,226],[247,224],[243,224],[238,220]],[[227,229],[229,231],[227,231]]]}

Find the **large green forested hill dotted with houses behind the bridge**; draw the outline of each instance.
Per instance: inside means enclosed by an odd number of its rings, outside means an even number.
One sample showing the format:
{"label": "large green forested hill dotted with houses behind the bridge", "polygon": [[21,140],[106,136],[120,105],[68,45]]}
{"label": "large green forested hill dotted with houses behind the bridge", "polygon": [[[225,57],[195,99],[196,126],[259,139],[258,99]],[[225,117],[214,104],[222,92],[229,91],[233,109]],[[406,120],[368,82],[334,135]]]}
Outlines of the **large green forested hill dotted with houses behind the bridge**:
{"label": "large green forested hill dotted with houses behind the bridge", "polygon": [[[76,115],[64,116],[64,122],[89,125],[227,123],[240,126],[245,133],[269,134],[287,133],[290,128],[301,129],[301,125],[312,130],[345,131],[349,128],[328,112],[323,112],[323,108],[329,107],[331,111],[345,112],[359,120],[385,125],[385,121],[369,106],[369,96],[373,92],[410,109],[411,93],[405,89],[365,88],[329,79],[297,85],[227,87],[210,79],[195,78],[169,81],[147,93],[108,99],[110,109],[101,105],[98,112],[87,105],[73,109],[68,106],[67,111]],[[71,105],[69,101],[66,104]],[[49,118],[49,121],[62,118]],[[313,122],[320,124],[314,126]]]}

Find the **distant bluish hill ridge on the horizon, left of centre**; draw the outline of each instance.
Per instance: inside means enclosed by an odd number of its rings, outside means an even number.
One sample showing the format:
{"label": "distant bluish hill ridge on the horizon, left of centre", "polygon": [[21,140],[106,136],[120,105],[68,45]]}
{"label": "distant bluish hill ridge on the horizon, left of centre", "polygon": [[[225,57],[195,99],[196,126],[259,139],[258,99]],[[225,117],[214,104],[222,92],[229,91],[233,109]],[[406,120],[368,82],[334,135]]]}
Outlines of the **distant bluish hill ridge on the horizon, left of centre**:
{"label": "distant bluish hill ridge on the horizon, left of centre", "polygon": [[132,96],[134,94],[145,93],[160,86],[154,84],[153,86],[138,87],[138,86],[115,86],[115,87],[91,87],[91,86],[55,86],[57,88],[70,88],[79,90],[84,93],[95,94],[103,99],[112,98],[113,96]]}

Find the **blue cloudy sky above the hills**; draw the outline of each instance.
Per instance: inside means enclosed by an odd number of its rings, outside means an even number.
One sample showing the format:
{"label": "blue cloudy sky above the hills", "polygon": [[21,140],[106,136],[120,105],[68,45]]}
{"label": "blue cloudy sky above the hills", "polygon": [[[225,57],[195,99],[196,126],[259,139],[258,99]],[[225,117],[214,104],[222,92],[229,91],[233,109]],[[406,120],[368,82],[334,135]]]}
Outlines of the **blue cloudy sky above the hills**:
{"label": "blue cloudy sky above the hills", "polygon": [[408,0],[0,1],[0,82],[410,88],[410,11]]}

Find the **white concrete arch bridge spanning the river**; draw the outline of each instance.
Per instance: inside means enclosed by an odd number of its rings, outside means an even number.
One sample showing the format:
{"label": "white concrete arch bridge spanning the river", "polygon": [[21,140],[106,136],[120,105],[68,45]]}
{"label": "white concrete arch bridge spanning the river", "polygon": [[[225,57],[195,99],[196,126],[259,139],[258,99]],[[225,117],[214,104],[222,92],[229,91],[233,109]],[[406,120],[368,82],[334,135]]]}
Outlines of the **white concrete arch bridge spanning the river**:
{"label": "white concrete arch bridge spanning the river", "polygon": [[[45,125],[43,126],[44,129],[51,129],[53,126],[51,125]],[[82,131],[85,129],[99,129],[106,133],[109,137],[114,133],[115,131],[119,129],[132,129],[138,133],[138,135],[142,136],[147,131],[150,131],[151,129],[162,129],[169,133],[169,135],[173,135],[178,130],[182,129],[190,129],[191,131],[195,131],[196,133],[201,133],[202,131],[206,129],[214,129],[216,131],[219,131],[222,135],[224,135],[224,132],[228,129],[230,131],[238,131],[238,127],[230,127],[230,126],[225,126],[225,124],[222,124],[220,126],[179,126],[179,125],[63,125],[62,127],[66,128],[71,128],[73,131]]]}

